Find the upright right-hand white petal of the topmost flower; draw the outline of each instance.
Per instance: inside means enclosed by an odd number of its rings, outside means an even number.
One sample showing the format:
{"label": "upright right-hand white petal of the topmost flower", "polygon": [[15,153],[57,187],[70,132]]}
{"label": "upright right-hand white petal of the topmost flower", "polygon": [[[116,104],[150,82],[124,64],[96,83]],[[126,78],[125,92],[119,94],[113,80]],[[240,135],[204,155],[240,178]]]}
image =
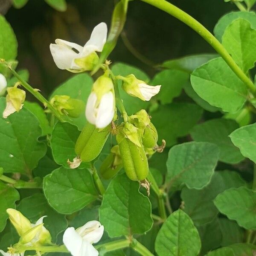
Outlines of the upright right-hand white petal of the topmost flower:
{"label": "upright right-hand white petal of the topmost flower", "polygon": [[94,29],[90,36],[89,41],[84,45],[84,47],[88,45],[95,46],[97,52],[101,52],[104,44],[107,40],[108,27],[107,24],[102,22],[99,23]]}

